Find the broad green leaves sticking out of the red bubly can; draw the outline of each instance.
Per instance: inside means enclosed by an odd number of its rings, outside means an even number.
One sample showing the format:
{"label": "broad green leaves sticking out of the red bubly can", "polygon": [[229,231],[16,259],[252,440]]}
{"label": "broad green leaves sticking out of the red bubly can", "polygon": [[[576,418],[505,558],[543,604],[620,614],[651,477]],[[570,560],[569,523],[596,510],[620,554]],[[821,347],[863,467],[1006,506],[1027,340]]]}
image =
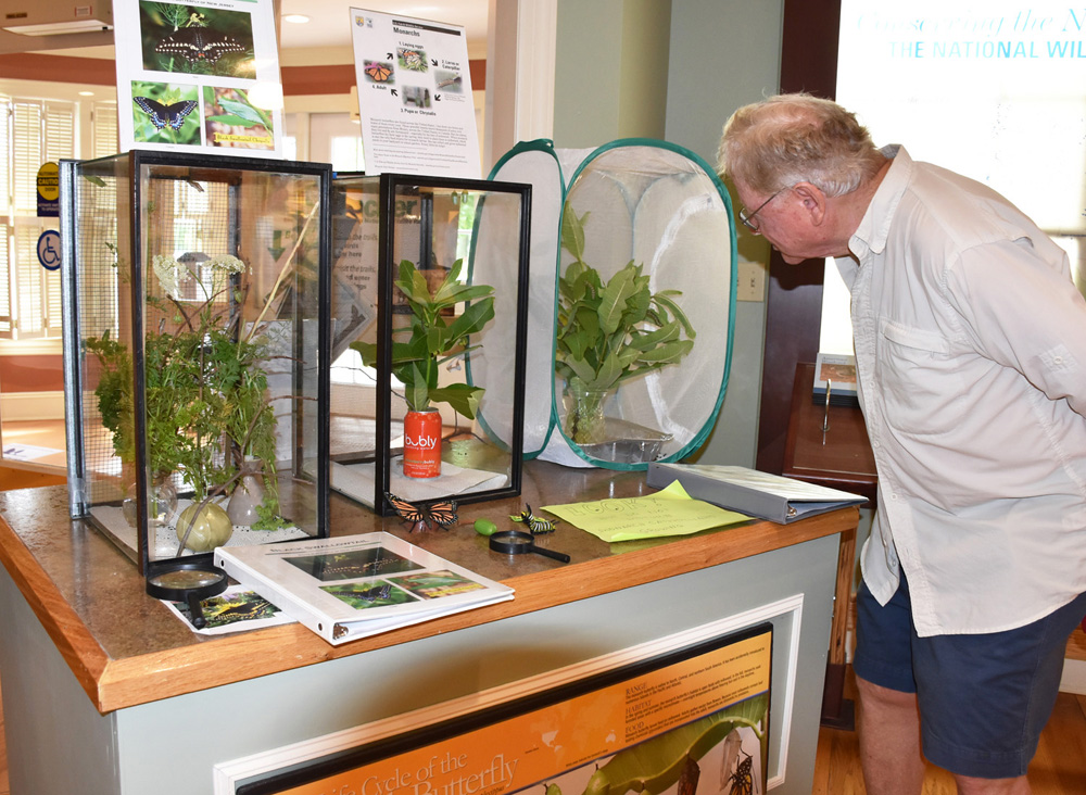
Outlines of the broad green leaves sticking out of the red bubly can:
{"label": "broad green leaves sticking out of the red bubly can", "polygon": [[[494,317],[494,288],[488,285],[465,285],[458,280],[463,261],[457,260],[445,278],[431,292],[426,277],[414,263],[400,263],[396,289],[412,310],[411,325],[393,330],[392,375],[404,384],[408,407],[419,412],[431,403],[447,403],[454,411],[473,419],[479,409],[483,388],[467,383],[438,386],[441,365],[463,356],[469,350],[469,337],[480,332]],[[452,310],[466,303],[458,315]],[[396,339],[396,337],[406,339]],[[377,344],[352,342],[362,354],[363,364],[377,364]]]}

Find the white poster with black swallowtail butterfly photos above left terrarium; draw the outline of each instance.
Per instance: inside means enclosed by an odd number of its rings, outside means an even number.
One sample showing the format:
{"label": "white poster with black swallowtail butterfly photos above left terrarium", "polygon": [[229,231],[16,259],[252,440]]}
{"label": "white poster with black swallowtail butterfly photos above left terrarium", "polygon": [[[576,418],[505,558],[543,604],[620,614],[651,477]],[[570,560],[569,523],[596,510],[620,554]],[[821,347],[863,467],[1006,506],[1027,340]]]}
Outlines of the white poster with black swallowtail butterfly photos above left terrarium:
{"label": "white poster with black swallowtail butterfly photos above left terrarium", "polygon": [[273,0],[114,0],[121,151],[282,156]]}

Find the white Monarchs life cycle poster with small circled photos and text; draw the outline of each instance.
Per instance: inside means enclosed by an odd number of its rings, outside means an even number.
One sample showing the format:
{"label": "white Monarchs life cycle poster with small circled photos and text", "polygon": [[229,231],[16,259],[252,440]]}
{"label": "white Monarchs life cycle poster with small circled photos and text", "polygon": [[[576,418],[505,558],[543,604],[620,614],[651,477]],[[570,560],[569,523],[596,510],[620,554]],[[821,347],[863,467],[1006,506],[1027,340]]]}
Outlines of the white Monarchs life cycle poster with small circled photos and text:
{"label": "white Monarchs life cycle poster with small circled photos and text", "polygon": [[479,179],[464,28],[351,9],[366,174]]}

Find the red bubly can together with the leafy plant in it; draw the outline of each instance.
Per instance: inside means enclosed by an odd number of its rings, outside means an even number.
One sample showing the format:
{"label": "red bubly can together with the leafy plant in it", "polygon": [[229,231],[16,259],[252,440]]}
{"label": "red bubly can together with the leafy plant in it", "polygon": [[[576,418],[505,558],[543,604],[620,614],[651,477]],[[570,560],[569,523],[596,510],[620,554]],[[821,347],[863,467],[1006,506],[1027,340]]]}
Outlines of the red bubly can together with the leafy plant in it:
{"label": "red bubly can together with the leafy plant in it", "polygon": [[[393,329],[391,371],[403,387],[408,413],[404,418],[404,474],[435,477],[440,474],[441,418],[433,403],[475,419],[483,388],[467,383],[440,386],[438,374],[446,362],[471,350],[469,338],[494,317],[494,289],[459,281],[463,261],[457,260],[432,290],[409,260],[400,263],[395,289],[411,306],[411,323]],[[454,314],[457,304],[465,304]],[[377,364],[377,343],[352,342],[363,364]]]}

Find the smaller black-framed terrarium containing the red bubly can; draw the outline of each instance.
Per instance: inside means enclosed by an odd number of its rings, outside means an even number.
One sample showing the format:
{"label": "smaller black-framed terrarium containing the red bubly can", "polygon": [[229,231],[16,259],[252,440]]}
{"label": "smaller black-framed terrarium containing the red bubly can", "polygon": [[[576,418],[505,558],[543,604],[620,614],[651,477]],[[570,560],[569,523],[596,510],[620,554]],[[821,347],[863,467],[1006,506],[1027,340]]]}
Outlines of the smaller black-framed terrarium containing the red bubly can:
{"label": "smaller black-framed terrarium containing the red bubly can", "polygon": [[525,185],[332,182],[331,488],[378,513],[520,493]]}

